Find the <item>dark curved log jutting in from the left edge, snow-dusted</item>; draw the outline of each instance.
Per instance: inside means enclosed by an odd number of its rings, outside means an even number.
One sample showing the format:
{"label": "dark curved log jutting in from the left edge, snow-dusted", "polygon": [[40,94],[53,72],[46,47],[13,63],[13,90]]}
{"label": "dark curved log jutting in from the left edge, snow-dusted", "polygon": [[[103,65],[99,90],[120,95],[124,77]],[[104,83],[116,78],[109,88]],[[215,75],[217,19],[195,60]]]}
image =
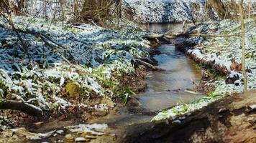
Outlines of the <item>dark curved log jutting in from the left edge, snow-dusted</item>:
{"label": "dark curved log jutting in from the left edge, snow-dusted", "polygon": [[29,114],[34,117],[42,117],[42,109],[22,101],[0,99],[0,109],[12,109]]}

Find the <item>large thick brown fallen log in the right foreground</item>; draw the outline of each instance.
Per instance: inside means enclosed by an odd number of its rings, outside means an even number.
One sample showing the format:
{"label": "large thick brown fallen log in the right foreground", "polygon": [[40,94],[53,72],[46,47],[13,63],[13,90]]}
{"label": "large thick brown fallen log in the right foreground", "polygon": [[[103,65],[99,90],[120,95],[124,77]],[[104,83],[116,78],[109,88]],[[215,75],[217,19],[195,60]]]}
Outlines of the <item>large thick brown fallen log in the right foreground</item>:
{"label": "large thick brown fallen log in the right foreground", "polygon": [[256,142],[255,97],[237,94],[175,119],[133,125],[118,142]]}

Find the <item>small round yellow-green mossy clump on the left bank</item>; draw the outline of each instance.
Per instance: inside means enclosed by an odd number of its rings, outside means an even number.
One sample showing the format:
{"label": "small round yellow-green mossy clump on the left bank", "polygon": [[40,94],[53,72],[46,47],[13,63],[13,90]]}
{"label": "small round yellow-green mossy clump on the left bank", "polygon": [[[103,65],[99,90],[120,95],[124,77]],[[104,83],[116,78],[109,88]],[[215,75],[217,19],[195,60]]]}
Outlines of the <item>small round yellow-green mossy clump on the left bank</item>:
{"label": "small round yellow-green mossy clump on the left bank", "polygon": [[75,97],[82,94],[82,89],[76,82],[68,82],[65,85],[66,92],[70,95],[70,97]]}

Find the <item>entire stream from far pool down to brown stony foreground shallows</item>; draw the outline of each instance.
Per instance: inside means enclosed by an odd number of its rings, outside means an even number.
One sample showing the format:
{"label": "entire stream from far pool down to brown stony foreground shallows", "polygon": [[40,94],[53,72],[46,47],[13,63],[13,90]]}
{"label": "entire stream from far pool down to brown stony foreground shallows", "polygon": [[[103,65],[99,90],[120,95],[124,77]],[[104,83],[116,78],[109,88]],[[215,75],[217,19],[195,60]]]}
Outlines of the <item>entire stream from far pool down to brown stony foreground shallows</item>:
{"label": "entire stream from far pool down to brown stony foreground shallows", "polygon": [[[180,26],[181,24],[150,24],[147,25],[147,30],[155,33],[165,33],[168,30],[177,31],[180,29]],[[150,122],[154,113],[156,114],[161,109],[169,109],[180,103],[188,104],[206,96],[192,90],[193,83],[201,80],[201,69],[193,60],[188,59],[182,52],[176,50],[173,44],[161,44],[155,50],[157,54],[153,58],[157,61],[157,67],[163,69],[163,71],[150,71],[147,73],[145,79],[147,88],[145,92],[137,94],[139,108],[145,110],[144,112],[153,114],[131,113],[126,107],[123,107],[118,109],[117,112],[107,114],[105,117],[93,119],[89,123],[99,124],[99,126],[107,124],[108,127],[102,131],[104,134],[106,133],[106,136],[93,137],[88,139],[88,141],[112,142],[119,130],[124,131],[126,127],[133,124]],[[53,121],[32,130],[34,132],[49,132],[53,129],[63,131],[59,136],[39,140],[41,142],[53,142],[56,140],[73,142],[73,139],[78,139],[81,137],[81,134],[71,133],[71,136],[68,134],[66,127],[76,124],[80,124],[80,122]],[[101,131],[101,129],[99,130]]]}

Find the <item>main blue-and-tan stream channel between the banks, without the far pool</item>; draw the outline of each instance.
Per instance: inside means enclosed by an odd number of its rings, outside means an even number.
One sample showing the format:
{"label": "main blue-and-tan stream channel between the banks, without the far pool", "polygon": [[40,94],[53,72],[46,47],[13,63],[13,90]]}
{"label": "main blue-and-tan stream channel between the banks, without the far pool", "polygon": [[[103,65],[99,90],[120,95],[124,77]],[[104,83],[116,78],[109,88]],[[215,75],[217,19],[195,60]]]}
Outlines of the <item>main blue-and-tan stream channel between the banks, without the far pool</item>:
{"label": "main blue-and-tan stream channel between the banks, without the far pool", "polygon": [[154,59],[165,71],[154,71],[147,77],[147,91],[140,94],[142,107],[155,112],[203,97],[201,94],[186,92],[193,88],[193,82],[201,79],[201,71],[196,64],[176,51],[173,45],[163,44],[158,49],[161,54]]}

